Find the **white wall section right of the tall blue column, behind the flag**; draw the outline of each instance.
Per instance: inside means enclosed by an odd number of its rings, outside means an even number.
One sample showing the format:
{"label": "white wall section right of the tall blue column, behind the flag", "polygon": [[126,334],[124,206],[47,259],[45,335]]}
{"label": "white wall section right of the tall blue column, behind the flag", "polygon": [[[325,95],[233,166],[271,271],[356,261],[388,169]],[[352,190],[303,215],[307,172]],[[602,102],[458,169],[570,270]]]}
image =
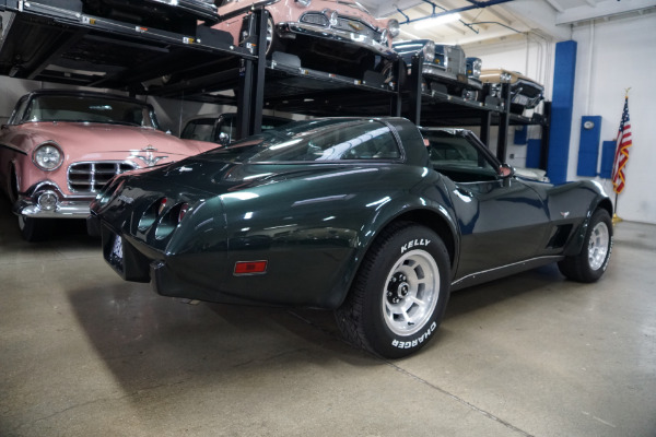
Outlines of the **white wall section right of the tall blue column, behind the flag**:
{"label": "white wall section right of the tall blue column, behind the flag", "polygon": [[[576,26],[573,39],[577,54],[567,177],[576,178],[581,117],[601,116],[601,141],[614,140],[624,90],[631,87],[633,146],[617,213],[624,220],[656,223],[656,13]],[[602,181],[611,192],[612,184]]]}

